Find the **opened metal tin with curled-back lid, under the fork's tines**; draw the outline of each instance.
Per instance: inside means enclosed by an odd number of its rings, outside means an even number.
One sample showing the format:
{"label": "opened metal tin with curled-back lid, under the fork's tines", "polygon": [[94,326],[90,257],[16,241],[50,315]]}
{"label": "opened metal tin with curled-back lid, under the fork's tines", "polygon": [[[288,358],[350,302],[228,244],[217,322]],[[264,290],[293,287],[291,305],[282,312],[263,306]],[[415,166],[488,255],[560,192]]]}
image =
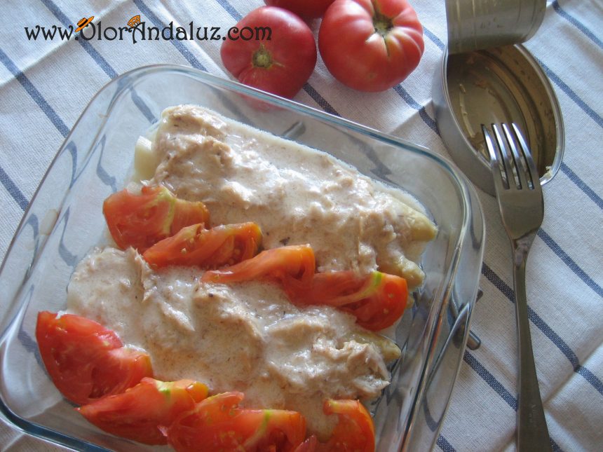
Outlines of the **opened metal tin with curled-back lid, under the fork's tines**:
{"label": "opened metal tin with curled-back lid, under the fork's tines", "polygon": [[471,182],[495,196],[481,125],[515,123],[545,184],[562,161],[561,110],[545,71],[518,42],[536,32],[546,1],[446,4],[449,43],[435,74],[433,106],[450,155]]}

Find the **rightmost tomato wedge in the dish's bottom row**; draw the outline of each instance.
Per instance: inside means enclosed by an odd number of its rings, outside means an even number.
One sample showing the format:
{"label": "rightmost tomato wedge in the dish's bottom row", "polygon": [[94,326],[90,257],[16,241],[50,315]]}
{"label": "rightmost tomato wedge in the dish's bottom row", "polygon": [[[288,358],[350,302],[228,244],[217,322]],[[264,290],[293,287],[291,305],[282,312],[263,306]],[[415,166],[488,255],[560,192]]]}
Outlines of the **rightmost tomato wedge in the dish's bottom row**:
{"label": "rightmost tomato wedge in the dish's bottom row", "polygon": [[319,452],[374,452],[373,420],[358,400],[325,400],[325,414],[337,414],[339,422],[329,441],[319,443]]}

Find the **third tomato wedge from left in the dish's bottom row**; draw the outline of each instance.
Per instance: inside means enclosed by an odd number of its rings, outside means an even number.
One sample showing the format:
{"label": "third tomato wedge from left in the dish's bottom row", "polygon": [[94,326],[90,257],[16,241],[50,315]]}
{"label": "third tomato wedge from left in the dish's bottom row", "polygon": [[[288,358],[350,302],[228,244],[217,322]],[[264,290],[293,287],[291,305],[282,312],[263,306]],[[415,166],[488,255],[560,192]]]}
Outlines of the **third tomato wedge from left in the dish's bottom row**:
{"label": "third tomato wedge from left in the dish's bottom row", "polygon": [[306,420],[295,411],[239,408],[241,392],[224,392],[182,413],[165,429],[178,452],[293,452],[306,437]]}

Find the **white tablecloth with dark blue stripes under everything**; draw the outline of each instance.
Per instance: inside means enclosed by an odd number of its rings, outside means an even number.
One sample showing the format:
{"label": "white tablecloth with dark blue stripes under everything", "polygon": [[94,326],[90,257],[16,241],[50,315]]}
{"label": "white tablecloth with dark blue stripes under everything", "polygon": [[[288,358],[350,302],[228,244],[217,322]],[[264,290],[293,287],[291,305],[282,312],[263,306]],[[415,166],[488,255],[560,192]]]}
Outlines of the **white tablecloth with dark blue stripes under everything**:
{"label": "white tablecloth with dark blue stripes under everything", "polygon": [[[67,27],[84,16],[123,26],[140,14],[163,26],[233,26],[262,0],[4,0],[0,3],[0,259],[55,152],[90,97],[146,64],[185,64],[229,78],[221,41],[29,41],[24,27]],[[447,41],[443,1],[412,0],[425,30],[419,68],[384,93],[335,81],[323,62],[295,100],[447,156],[431,104]],[[318,21],[313,23],[318,29]],[[549,1],[527,43],[546,71],[565,124],[561,170],[544,188],[545,218],[527,268],[536,367],[555,451],[603,450],[603,2]],[[516,339],[509,245],[496,200],[480,193],[487,243],[472,329],[447,418],[443,451],[513,450]],[[6,300],[0,300],[6,303]],[[1,308],[1,306],[0,306]],[[0,421],[1,451],[51,448]]]}

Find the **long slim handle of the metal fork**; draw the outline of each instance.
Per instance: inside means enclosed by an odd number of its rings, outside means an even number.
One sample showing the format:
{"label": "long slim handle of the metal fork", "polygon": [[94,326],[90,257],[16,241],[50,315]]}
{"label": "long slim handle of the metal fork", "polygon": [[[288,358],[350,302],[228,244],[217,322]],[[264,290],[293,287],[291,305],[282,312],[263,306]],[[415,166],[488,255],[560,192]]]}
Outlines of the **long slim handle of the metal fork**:
{"label": "long slim handle of the metal fork", "polygon": [[513,286],[519,345],[519,394],[517,396],[517,451],[552,451],[531,348],[526,298],[527,249],[513,243]]}

